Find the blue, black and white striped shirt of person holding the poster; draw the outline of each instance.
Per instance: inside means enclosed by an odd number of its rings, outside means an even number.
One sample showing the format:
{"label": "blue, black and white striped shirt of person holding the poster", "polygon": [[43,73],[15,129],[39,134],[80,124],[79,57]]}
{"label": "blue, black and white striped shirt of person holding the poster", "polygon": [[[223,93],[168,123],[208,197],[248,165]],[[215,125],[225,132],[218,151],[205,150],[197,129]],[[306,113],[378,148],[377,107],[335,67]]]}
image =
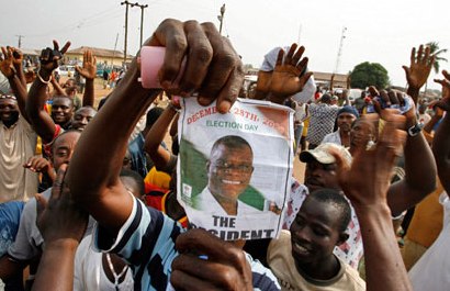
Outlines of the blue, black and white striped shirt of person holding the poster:
{"label": "blue, black and white striped shirt of person holding the poster", "polygon": [[[133,270],[135,290],[173,290],[171,265],[178,256],[177,237],[185,230],[161,212],[134,199],[133,211],[116,237],[97,226],[94,248],[122,256]],[[280,290],[273,273],[246,254],[250,264],[254,290]]]}

